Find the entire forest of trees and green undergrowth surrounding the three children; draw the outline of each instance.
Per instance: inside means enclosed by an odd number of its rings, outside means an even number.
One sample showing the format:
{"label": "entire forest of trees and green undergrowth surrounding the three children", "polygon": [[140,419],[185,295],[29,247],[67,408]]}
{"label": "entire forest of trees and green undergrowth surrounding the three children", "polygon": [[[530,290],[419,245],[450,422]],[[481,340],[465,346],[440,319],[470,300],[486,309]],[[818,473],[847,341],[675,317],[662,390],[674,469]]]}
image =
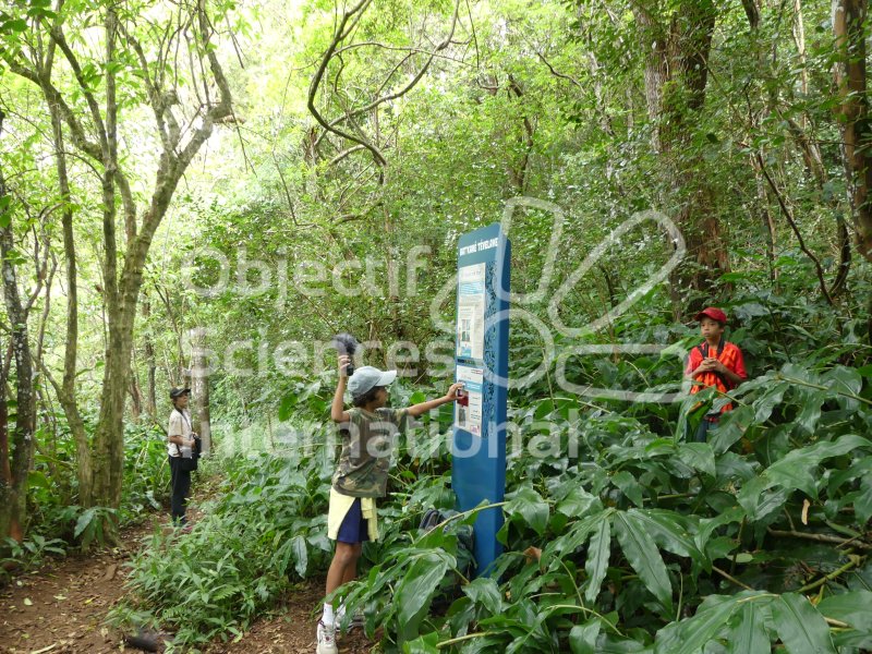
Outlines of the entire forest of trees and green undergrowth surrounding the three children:
{"label": "entire forest of trees and green undergrowth surrounding the three children", "polygon": [[[0,3],[3,579],[166,512],[190,385],[219,489],[111,619],[196,649],[276,610],[331,556],[331,336],[393,405],[445,392],[458,237],[504,219],[499,574],[458,562],[474,514],[419,533],[453,507],[434,412],[341,590],[367,632],[872,649],[868,35],[859,0]],[[708,304],[750,378],[694,444]]]}

